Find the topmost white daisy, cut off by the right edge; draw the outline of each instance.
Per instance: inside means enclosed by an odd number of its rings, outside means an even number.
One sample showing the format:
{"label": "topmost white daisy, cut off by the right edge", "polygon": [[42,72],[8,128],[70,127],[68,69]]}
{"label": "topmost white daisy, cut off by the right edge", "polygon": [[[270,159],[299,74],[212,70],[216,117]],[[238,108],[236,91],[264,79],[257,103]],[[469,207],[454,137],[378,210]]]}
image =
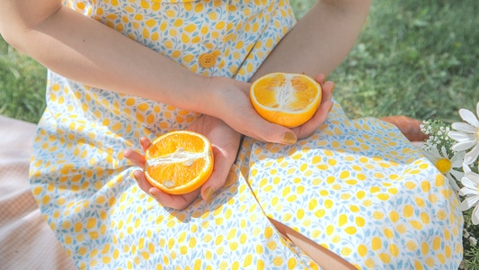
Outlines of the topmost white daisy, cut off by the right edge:
{"label": "topmost white daisy, cut off by the right edge", "polygon": [[[479,103],[477,103],[475,111],[479,115]],[[459,115],[466,122],[453,123],[452,128],[457,131],[449,131],[448,135],[457,141],[452,146],[453,150],[463,151],[472,148],[464,157],[464,163],[469,165],[475,162],[479,156],[479,121],[473,112],[466,109],[460,109]]]}

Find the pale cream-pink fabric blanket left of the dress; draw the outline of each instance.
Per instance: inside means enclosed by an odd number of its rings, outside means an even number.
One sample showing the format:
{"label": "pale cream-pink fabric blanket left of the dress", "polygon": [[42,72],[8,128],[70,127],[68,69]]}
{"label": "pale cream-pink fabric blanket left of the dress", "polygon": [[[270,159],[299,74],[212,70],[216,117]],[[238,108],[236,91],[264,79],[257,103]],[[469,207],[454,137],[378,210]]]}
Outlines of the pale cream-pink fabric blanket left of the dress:
{"label": "pale cream-pink fabric blanket left of the dress", "polygon": [[0,115],[0,268],[75,269],[31,194],[35,129],[35,124]]}

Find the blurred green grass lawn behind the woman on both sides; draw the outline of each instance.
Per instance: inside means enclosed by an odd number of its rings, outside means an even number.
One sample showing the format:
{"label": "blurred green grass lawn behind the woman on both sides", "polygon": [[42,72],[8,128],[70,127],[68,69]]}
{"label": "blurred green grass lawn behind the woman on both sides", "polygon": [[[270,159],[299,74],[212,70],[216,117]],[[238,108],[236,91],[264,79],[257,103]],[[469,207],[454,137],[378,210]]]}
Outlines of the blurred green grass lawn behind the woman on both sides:
{"label": "blurred green grass lawn behind the woman on both sides", "polygon": [[[292,0],[301,17],[313,0]],[[373,1],[354,48],[329,79],[352,118],[459,120],[479,101],[477,0]],[[46,70],[0,40],[0,114],[40,119]]]}

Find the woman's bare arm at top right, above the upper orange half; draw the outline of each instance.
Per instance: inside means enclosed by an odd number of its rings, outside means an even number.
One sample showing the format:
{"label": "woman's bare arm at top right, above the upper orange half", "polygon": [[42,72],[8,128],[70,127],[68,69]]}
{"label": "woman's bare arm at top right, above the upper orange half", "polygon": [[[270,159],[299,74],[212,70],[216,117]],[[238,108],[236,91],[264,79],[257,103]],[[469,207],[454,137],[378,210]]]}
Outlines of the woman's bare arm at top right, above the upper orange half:
{"label": "woman's bare arm at top right, above the upper orange half", "polygon": [[330,74],[366,22],[370,0],[320,0],[279,42],[253,79],[274,71]]}

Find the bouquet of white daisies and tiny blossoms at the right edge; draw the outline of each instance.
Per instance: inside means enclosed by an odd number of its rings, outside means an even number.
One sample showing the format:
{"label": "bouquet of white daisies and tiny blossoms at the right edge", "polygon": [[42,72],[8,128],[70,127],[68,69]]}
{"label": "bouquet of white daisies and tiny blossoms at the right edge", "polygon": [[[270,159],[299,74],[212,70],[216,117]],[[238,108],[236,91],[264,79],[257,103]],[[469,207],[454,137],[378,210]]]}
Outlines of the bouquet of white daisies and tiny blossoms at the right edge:
{"label": "bouquet of white daisies and tiny blossoms at the right edge", "polygon": [[479,269],[479,103],[476,115],[459,110],[465,122],[448,125],[439,120],[424,121],[421,131],[429,138],[422,144],[424,155],[430,159],[451,187],[457,191],[464,211],[464,260],[461,268]]}

